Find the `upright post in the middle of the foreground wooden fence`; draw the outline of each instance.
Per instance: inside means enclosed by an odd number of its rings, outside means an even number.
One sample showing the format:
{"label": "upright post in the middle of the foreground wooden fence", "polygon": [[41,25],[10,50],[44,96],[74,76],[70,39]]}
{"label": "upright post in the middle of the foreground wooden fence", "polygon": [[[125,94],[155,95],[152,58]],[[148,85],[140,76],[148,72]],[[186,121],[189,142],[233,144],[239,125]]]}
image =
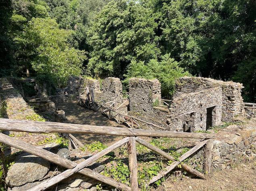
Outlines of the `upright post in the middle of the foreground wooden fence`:
{"label": "upright post in the middle of the foreground wooden fence", "polygon": [[128,152],[131,190],[139,191],[137,178],[137,153],[135,137],[130,137],[130,141],[128,142]]}

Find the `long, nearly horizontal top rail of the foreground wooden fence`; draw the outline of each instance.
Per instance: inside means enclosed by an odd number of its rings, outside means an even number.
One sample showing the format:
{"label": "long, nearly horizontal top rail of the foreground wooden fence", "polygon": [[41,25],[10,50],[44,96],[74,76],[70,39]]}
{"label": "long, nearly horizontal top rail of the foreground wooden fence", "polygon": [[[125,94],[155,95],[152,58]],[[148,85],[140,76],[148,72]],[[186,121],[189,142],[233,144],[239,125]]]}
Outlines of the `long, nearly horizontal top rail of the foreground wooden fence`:
{"label": "long, nearly horizontal top rail of the foreground wooden fence", "polygon": [[95,126],[83,124],[68,124],[58,122],[35,122],[25,120],[10,120],[0,118],[0,130],[31,132],[31,133],[75,133],[75,134],[105,134],[119,136],[149,136],[176,138],[215,138],[214,134],[173,132],[161,130],[143,130],[110,126]]}

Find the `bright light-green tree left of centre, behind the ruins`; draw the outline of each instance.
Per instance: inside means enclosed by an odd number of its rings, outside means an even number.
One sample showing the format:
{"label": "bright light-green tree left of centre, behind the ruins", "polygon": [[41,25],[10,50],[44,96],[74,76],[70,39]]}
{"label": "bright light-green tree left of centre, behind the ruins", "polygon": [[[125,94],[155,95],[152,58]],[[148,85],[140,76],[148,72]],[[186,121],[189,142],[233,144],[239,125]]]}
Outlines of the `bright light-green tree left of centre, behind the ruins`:
{"label": "bright light-green tree left of centre, behind the ruins", "polygon": [[52,77],[58,87],[66,85],[71,75],[81,75],[85,52],[68,43],[72,31],[59,29],[51,18],[32,18],[19,43],[29,47],[31,66],[37,75]]}

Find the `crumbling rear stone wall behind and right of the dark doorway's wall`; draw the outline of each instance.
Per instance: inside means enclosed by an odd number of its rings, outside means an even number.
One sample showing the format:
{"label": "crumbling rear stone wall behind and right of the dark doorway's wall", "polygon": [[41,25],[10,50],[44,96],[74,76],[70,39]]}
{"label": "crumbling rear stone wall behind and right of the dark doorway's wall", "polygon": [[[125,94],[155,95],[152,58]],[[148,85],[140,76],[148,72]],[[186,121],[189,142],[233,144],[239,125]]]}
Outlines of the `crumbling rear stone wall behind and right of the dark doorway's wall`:
{"label": "crumbling rear stone wall behind and right of the dark doorway's wall", "polygon": [[176,93],[173,97],[214,87],[222,89],[222,121],[231,122],[244,108],[244,100],[241,96],[241,89],[244,87],[241,83],[203,77],[181,77],[176,83]]}

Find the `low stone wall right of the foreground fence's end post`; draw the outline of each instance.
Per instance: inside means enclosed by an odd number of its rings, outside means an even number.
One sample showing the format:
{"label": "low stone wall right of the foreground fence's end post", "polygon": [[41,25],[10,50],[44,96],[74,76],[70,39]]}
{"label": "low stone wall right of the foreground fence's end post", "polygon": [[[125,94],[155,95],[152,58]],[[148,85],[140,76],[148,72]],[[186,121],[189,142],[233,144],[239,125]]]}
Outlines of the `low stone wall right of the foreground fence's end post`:
{"label": "low stone wall right of the foreground fence's end post", "polygon": [[246,125],[231,125],[217,134],[213,140],[212,166],[223,170],[243,158],[256,156],[256,120]]}

